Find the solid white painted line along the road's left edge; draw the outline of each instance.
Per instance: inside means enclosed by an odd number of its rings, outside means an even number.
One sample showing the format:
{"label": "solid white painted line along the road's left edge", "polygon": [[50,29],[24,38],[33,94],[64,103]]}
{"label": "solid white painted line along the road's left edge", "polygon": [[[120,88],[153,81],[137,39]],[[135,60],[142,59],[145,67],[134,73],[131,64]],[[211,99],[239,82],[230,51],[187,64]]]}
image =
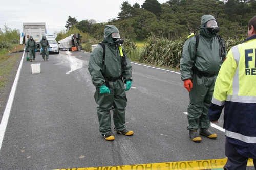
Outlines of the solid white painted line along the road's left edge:
{"label": "solid white painted line along the road's left edge", "polygon": [[[24,47],[24,50],[25,50],[25,47]],[[18,71],[17,71],[16,77],[15,77],[13,85],[12,85],[12,90],[10,92],[9,99],[8,99],[7,104],[6,104],[5,112],[3,114],[3,118],[2,118],[2,121],[1,121],[1,124],[0,124],[0,150],[1,150],[1,147],[2,147],[2,142],[3,142],[3,139],[4,139],[4,135],[5,135],[5,130],[6,130],[9,115],[10,115],[10,112],[11,112],[12,102],[13,102],[16,87],[17,87],[17,84],[18,84],[20,70],[22,69],[24,54],[25,54],[25,51],[23,52],[22,60],[20,61]]]}

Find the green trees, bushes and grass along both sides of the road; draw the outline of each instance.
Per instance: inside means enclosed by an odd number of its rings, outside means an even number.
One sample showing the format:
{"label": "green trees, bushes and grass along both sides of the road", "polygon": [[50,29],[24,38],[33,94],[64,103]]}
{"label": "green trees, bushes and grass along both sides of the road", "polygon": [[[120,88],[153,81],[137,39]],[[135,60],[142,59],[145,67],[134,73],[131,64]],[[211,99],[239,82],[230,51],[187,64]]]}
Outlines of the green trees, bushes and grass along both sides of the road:
{"label": "green trees, bushes and grass along both sides of the road", "polygon": [[[69,16],[66,30],[54,32],[56,40],[79,33],[83,50],[91,52],[91,46],[102,40],[105,25],[113,24],[125,41],[123,46],[131,61],[179,70],[183,44],[189,33],[201,26],[202,15],[217,19],[227,51],[246,39],[248,21],[256,15],[255,0],[169,0],[163,4],[146,0],[141,5],[127,1],[121,5],[117,18],[106,23],[77,21]],[[10,53],[24,48],[19,46],[19,39],[20,30],[6,25],[0,29],[0,90],[17,60],[18,54]]]}

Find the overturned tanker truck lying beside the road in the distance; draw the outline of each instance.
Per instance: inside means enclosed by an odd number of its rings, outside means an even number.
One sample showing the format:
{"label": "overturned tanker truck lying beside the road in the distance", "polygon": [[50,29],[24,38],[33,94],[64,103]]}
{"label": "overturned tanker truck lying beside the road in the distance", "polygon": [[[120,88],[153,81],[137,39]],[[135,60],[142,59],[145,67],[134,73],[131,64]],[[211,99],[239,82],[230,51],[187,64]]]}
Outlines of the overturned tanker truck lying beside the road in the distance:
{"label": "overturned tanker truck lying beside the road in the distance", "polygon": [[82,36],[80,36],[80,34],[71,34],[70,36],[60,40],[58,42],[60,50],[82,50],[81,37]]}

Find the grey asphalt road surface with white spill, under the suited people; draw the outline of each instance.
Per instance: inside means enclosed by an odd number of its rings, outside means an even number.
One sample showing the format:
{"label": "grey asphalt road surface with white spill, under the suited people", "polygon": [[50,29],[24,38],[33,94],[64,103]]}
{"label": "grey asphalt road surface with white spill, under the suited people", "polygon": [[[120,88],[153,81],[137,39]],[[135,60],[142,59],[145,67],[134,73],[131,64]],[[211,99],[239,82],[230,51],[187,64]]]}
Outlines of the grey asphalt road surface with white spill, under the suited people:
{"label": "grey asphalt road surface with white spill, under the suited people", "polygon": [[[22,55],[22,54],[21,54]],[[133,136],[106,141],[98,131],[89,53],[60,51],[49,62],[22,60],[22,69],[0,150],[0,169],[68,169],[222,159],[225,135],[190,140],[188,92],[180,73],[132,63],[126,126]],[[32,74],[31,64],[41,72]],[[222,127],[223,120],[218,126]],[[114,125],[112,123],[112,129]],[[2,129],[3,130],[3,129]]]}

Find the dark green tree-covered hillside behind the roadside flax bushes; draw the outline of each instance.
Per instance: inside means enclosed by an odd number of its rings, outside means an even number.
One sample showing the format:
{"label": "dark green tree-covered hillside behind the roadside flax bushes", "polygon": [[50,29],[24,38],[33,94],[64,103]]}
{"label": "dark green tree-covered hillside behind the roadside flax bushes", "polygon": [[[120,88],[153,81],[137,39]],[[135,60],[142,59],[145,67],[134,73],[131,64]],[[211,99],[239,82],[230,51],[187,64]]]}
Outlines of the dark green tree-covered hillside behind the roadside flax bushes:
{"label": "dark green tree-covered hillside behind the roadside flax bushes", "polygon": [[102,39],[106,24],[115,25],[127,39],[142,41],[154,34],[176,40],[194,32],[201,26],[201,17],[210,14],[221,28],[220,36],[245,38],[248,21],[256,15],[256,0],[169,0],[162,4],[145,0],[142,5],[131,5],[128,1],[121,5],[117,18],[107,23],[96,23],[93,19],[77,21],[69,16],[65,27],[76,27],[97,40]]}

